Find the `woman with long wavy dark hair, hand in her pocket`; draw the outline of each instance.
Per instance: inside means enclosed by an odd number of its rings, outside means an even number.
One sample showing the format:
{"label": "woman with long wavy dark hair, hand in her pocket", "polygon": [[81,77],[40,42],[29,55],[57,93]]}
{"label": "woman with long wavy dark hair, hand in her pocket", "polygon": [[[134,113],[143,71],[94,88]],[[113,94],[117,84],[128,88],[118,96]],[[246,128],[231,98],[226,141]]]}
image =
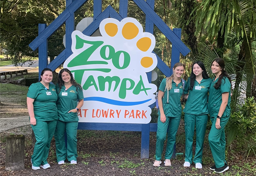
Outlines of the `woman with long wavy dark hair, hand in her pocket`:
{"label": "woman with long wavy dark hair, hand in her pocket", "polygon": [[[56,85],[58,94],[58,121],[54,134],[58,164],[64,164],[67,158],[71,164],[77,163],[77,127],[78,111],[83,106],[83,89],[75,82],[72,73],[63,68],[59,72]],[[67,134],[67,147],[64,134]]]}

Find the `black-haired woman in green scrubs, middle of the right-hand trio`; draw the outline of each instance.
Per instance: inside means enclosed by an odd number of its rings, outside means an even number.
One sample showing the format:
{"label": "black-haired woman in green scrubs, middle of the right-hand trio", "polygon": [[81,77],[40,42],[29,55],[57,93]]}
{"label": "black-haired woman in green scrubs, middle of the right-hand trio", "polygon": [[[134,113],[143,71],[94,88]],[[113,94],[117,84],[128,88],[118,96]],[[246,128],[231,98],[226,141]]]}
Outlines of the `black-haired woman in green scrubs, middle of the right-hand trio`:
{"label": "black-haired woman in green scrubs, middle of the right-hand trio", "polygon": [[193,136],[196,125],[196,151],[193,162],[196,164],[196,168],[202,169],[204,136],[208,121],[207,100],[211,81],[204,64],[201,61],[193,63],[187,84],[188,90],[184,90],[184,94],[188,94],[189,91],[188,100],[183,110],[186,135],[184,167],[190,167],[192,164]]}

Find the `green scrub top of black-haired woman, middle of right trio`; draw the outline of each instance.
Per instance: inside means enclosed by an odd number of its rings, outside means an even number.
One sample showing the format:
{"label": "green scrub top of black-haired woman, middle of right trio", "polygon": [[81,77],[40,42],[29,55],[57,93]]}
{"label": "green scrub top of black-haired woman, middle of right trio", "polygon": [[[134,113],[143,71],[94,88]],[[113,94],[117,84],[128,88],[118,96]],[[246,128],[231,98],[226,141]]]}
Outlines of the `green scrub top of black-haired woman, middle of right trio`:
{"label": "green scrub top of black-haired woman, middle of right trio", "polygon": [[211,78],[202,79],[200,84],[195,80],[193,90],[190,90],[190,78],[188,79],[184,94],[188,94],[189,91],[189,97],[186,101],[183,112],[193,115],[204,115],[209,113],[207,108],[207,100],[211,83]]}

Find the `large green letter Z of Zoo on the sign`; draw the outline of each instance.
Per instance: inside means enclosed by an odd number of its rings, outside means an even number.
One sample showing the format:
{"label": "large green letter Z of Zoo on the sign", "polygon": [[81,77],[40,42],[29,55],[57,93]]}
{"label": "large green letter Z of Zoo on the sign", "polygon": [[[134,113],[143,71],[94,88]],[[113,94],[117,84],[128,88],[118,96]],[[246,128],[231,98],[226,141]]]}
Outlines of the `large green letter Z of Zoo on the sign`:
{"label": "large green letter Z of Zoo on the sign", "polygon": [[89,57],[93,54],[93,52],[104,43],[103,41],[86,41],[84,39],[81,39],[78,35],[75,36],[75,39],[75,49],[81,49],[85,43],[91,44],[92,46],[88,47],[85,51],[74,57],[74,59],[72,59],[70,63],[68,63],[68,67],[92,64],[108,64],[106,61],[87,61]]}

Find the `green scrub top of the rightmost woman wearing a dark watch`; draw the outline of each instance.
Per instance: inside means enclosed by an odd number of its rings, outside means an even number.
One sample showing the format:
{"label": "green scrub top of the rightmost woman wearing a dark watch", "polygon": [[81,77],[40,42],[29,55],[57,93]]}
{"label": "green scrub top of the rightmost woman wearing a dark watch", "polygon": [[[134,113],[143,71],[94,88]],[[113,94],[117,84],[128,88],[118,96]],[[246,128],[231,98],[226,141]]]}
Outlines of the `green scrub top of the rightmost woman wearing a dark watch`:
{"label": "green scrub top of the rightmost woman wearing a dark watch", "polygon": [[[215,78],[214,78],[215,79]],[[228,95],[228,104],[226,109],[222,115],[222,117],[230,116],[230,102],[231,102],[231,83],[226,77],[223,77],[221,80],[221,85],[218,89],[215,89],[213,86],[219,80],[217,78],[215,81],[212,80],[212,84],[209,90],[209,101],[208,101],[208,109],[211,117],[217,117],[220,109],[220,105],[222,103],[222,93],[229,92]]]}

